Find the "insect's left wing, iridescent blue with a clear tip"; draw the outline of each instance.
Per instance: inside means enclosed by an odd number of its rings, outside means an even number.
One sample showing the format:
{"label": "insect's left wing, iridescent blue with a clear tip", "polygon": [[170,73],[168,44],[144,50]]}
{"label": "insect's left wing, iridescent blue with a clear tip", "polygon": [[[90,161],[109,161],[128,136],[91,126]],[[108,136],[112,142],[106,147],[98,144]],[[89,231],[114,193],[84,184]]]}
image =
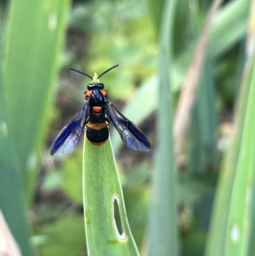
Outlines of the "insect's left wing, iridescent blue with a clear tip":
{"label": "insect's left wing, iridescent blue with a clear tip", "polygon": [[61,132],[52,144],[50,154],[53,156],[61,156],[68,154],[77,146],[80,135],[84,130],[85,124],[89,117],[89,102],[88,100],[80,107],[75,116],[69,123],[62,128]]}

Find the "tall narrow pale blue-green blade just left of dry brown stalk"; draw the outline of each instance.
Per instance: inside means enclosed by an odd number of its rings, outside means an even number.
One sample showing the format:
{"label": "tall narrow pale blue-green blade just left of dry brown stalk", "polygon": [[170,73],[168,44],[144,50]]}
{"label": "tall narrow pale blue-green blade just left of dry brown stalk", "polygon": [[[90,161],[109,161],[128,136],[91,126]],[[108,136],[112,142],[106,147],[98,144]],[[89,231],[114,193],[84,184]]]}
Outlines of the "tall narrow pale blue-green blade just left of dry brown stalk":
{"label": "tall narrow pale blue-green blade just left of dry brown stalk", "polygon": [[[156,3],[156,2],[155,2]],[[173,156],[173,120],[170,89],[170,66],[173,57],[173,22],[178,1],[165,1],[159,32],[159,111],[156,170],[152,179],[149,212],[148,255],[177,256],[175,204],[175,160]]]}

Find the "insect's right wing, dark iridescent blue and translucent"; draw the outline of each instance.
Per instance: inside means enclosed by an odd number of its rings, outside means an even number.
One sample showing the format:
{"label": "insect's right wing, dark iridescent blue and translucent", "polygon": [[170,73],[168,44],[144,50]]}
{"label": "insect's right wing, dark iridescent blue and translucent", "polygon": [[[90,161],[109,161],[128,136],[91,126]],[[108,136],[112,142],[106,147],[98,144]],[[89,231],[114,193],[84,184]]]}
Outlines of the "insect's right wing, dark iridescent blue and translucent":
{"label": "insect's right wing, dark iridescent blue and translucent", "polygon": [[115,126],[124,144],[134,150],[149,151],[150,142],[140,129],[128,118],[123,116],[119,110],[113,106],[112,102],[108,100],[105,100],[105,102],[106,117]]}

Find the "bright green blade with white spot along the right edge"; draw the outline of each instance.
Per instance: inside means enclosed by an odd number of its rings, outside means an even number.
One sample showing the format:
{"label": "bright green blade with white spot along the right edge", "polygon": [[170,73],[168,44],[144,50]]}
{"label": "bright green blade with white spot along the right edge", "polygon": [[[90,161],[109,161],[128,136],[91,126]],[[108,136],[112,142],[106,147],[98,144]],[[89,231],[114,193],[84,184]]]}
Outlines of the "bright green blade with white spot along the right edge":
{"label": "bright green blade with white spot along the right edge", "polygon": [[[254,9],[253,9],[254,10]],[[254,32],[253,32],[254,33]],[[252,50],[254,45],[252,43]],[[254,225],[252,215],[252,197],[255,191],[255,52],[248,57],[246,68],[251,68],[251,80],[246,80],[243,87],[247,94],[241,94],[240,100],[245,102],[245,112],[239,112],[244,117],[242,123],[242,135],[240,138],[239,154],[235,167],[235,179],[230,198],[230,213],[226,229],[226,255],[245,255],[249,249],[249,242],[254,243],[254,237],[249,237],[252,231],[249,227]],[[249,88],[249,89],[248,89]],[[241,117],[241,119],[243,118]],[[240,126],[239,126],[240,128]],[[244,171],[245,170],[245,171]],[[249,255],[253,255],[250,252]],[[247,254],[248,255],[248,254]]]}

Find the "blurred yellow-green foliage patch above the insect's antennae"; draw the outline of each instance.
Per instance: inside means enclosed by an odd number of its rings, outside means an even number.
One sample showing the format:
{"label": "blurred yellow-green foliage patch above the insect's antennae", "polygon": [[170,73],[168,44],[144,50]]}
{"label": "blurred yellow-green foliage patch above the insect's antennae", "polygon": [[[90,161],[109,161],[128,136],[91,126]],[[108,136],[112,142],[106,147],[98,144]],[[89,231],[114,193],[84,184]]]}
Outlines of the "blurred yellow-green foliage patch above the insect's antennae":
{"label": "blurred yellow-green foliage patch above the insect's antennae", "polygon": [[93,74],[120,64],[118,70],[103,77],[112,97],[131,98],[135,86],[155,70],[157,45],[144,4],[142,1],[109,4],[98,0],[82,6],[77,4],[73,9],[70,26],[82,31],[92,30],[89,46],[85,49],[87,58],[80,61],[84,70]]}

